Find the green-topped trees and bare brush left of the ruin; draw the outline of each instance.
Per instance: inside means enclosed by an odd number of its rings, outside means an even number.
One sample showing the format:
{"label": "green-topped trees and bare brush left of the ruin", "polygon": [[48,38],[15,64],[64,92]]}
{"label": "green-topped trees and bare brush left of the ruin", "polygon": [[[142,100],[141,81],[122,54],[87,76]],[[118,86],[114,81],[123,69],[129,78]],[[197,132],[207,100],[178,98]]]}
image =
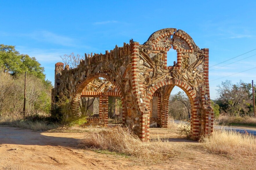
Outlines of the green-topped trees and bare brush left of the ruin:
{"label": "green-topped trees and bare brush left of the ruin", "polygon": [[50,114],[51,82],[44,67],[12,45],[0,44],[0,115],[21,116],[24,105],[24,73],[27,72],[26,116]]}

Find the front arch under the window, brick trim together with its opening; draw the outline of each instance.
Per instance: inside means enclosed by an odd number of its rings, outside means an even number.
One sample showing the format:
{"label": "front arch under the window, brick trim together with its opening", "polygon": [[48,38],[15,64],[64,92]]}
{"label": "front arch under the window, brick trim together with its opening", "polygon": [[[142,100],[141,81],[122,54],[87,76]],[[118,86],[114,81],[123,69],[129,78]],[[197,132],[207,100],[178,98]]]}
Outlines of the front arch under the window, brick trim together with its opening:
{"label": "front arch under the window, brick trim together with its opening", "polygon": [[[193,138],[196,134],[192,131],[192,127],[194,126],[191,124],[198,122],[195,120],[195,93],[192,88],[184,82],[175,80],[173,82],[159,82],[156,84],[156,87],[152,87],[149,91],[150,138],[184,138],[187,136],[192,136]],[[180,120],[172,119],[174,117],[180,117]],[[187,132],[181,136],[177,132],[174,132],[174,123],[186,125],[183,128],[184,130],[186,128]],[[159,128],[163,129],[160,130]]]}

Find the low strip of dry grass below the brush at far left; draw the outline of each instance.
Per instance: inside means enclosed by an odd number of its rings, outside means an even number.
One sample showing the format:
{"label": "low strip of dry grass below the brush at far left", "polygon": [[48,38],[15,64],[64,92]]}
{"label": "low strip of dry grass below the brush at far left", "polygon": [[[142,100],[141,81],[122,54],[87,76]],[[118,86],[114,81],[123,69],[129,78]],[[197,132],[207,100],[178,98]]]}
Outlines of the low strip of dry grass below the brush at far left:
{"label": "low strip of dry grass below the brush at far left", "polygon": [[48,124],[44,121],[30,121],[30,120],[23,120],[18,118],[12,117],[0,117],[0,125],[10,125],[18,128],[24,129],[32,129],[32,130],[51,130],[53,128],[57,128],[58,125],[56,124]]}

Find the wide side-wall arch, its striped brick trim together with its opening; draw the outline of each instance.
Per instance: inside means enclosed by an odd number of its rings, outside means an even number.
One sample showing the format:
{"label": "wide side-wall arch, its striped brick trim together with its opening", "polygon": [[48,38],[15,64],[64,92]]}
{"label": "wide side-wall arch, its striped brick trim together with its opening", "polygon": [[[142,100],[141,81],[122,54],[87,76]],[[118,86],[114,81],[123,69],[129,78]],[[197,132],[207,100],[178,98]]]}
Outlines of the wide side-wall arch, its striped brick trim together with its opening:
{"label": "wide side-wall arch, its striped brick trim together with its opening", "polygon": [[[73,114],[87,117],[87,124],[108,125],[109,110],[113,109],[118,115],[118,123],[123,122],[123,97],[115,80],[106,74],[93,74],[86,77],[77,85],[77,93],[72,101]],[[115,103],[109,108],[109,99],[114,98]],[[118,108],[115,108],[118,105]],[[121,105],[121,106],[120,106]]]}

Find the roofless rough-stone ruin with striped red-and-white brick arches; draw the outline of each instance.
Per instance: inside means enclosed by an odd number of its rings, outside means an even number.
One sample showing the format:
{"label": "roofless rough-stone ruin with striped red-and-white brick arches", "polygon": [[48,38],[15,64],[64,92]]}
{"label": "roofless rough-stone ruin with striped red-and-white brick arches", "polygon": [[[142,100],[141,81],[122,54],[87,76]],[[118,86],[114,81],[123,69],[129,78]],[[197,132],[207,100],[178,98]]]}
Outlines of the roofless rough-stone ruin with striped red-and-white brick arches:
{"label": "roofless rough-stone ruin with striped red-and-white brick arches", "polygon": [[[177,62],[167,66],[167,51],[177,51]],[[56,96],[70,92],[72,115],[77,115],[80,96],[99,95],[100,119],[107,124],[108,96],[119,96],[122,101],[123,122],[143,140],[149,139],[150,121],[167,126],[168,102],[174,86],[188,95],[192,104],[191,136],[213,131],[213,109],[210,102],[208,80],[209,49],[199,49],[183,30],[165,28],[154,32],[144,44],[130,40],[123,47],[115,47],[105,54],[85,56],[77,68],[69,69],[61,62],[55,64],[55,88],[52,89],[53,108]],[[115,91],[90,92],[84,87],[95,77],[103,77],[116,86]],[[157,90],[157,91],[156,91]],[[150,118],[150,100],[158,97],[157,117]],[[103,105],[102,105],[103,103]],[[155,108],[156,109],[156,108]],[[104,120],[104,121],[102,121]],[[90,121],[90,120],[89,120]]]}

